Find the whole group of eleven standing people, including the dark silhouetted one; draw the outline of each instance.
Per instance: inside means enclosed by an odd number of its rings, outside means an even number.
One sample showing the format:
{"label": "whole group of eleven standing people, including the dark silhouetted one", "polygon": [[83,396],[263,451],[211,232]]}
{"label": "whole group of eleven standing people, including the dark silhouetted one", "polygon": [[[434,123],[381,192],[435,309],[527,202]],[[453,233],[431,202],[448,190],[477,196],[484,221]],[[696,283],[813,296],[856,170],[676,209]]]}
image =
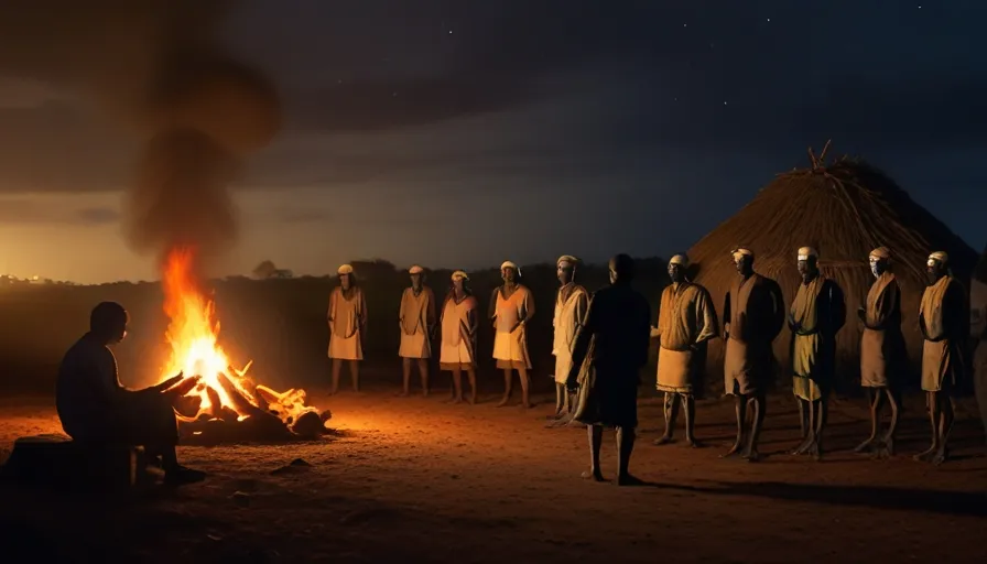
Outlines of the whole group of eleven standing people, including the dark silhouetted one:
{"label": "whole group of eleven standing people, including the dark silhouetted one", "polygon": [[[648,360],[652,339],[659,341],[657,389],[664,393],[665,431],[654,443],[673,442],[679,412],[685,415],[685,441],[696,446],[695,399],[702,392],[707,345],[723,338],[725,392],[735,399],[737,436],[724,456],[756,462],[758,438],[767,412],[766,394],[774,379],[773,341],[788,326],[791,332],[789,367],[799,404],[801,443],[792,454],[822,456],[828,399],[834,382],[836,335],[846,323],[846,304],[839,284],[820,272],[818,252],[811,247],[798,250],[795,268],[802,282],[792,304],[785,307],[778,283],[755,271],[755,252],[737,248],[730,252],[737,270],[723,304],[723,325],[709,292],[687,276],[688,258],[676,254],[669,261],[671,284],[661,295],[658,323],[647,300],[630,288],[634,263],[619,254],[609,263],[610,286],[590,295],[576,283],[578,260],[560,257],[556,274],[560,288],[553,318],[553,355],[556,405],[553,419],[589,427],[590,470],[599,475],[599,441],[603,426],[618,429],[620,458],[618,482],[633,481],[627,463],[633,448],[637,426],[637,388],[640,368]],[[868,390],[871,433],[857,452],[877,455],[893,453],[899,413],[900,376],[905,358],[901,334],[900,288],[892,271],[891,252],[885,247],[869,254],[875,281],[865,306],[857,315],[864,325],[860,343],[861,384]],[[520,268],[501,264],[503,283],[494,291],[488,316],[495,327],[494,358],[505,375],[503,398],[511,398],[513,372],[518,372],[522,404],[530,406],[527,325],[534,315],[534,300],[520,283]],[[922,389],[928,394],[932,426],[930,448],[918,459],[942,463],[953,425],[950,395],[964,366],[966,306],[961,283],[950,271],[948,256],[933,252],[925,264],[929,285],[919,308],[924,337]],[[333,359],[332,392],[338,390],[341,362],[349,362],[354,388],[359,388],[358,361],[362,359],[360,336],[366,327],[367,305],[354,283],[352,268],[341,265],[339,285],[334,289],[327,313],[330,329],[328,356]],[[466,285],[463,271],[452,274],[453,286],[440,305],[424,284],[424,270],[409,270],[411,286],[402,295],[399,311],[403,359],[403,393],[410,392],[414,365],[429,388],[431,343],[441,329],[440,366],[453,372],[452,401],[464,401],[462,373],[469,379],[466,401],[476,401],[476,336],[479,325],[477,301]],[[438,316],[436,319],[436,311]],[[885,403],[890,406],[890,425],[880,433]]]}

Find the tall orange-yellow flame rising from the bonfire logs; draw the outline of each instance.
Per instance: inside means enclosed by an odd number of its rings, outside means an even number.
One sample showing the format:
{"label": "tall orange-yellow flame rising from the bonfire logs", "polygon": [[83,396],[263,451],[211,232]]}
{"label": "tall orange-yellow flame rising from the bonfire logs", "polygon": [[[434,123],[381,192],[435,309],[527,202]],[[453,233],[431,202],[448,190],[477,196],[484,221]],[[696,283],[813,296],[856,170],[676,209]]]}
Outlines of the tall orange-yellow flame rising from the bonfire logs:
{"label": "tall orange-yellow flame rising from the bonfire logs", "polygon": [[[164,312],[170,318],[165,337],[171,345],[171,357],[165,364],[162,379],[178,372],[185,377],[200,376],[200,383],[188,395],[202,400],[199,413],[212,408],[208,390],[215,390],[224,406],[237,412],[240,420],[249,414],[239,409],[242,402],[230,398],[220,382],[225,376],[243,399],[257,406],[253,394],[247,391],[250,382],[245,378],[250,362],[242,369],[235,369],[218,344],[219,322],[214,322],[215,305],[207,300],[196,284],[194,272],[195,254],[191,249],[174,249],[169,252],[164,268]],[[221,376],[220,376],[221,375]]]}

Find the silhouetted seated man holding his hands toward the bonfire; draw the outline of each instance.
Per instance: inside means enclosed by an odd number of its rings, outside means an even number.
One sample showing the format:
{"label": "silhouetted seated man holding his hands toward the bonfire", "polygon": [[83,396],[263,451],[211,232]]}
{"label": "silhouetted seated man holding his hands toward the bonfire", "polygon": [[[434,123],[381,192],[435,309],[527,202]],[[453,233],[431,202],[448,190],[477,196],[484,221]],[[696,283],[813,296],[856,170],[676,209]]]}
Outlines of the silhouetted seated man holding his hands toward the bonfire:
{"label": "silhouetted seated man holding his hands toward the bonfire", "polygon": [[56,406],[62,429],[73,440],[97,445],[143,446],[161,456],[165,482],[202,481],[205,474],[178,464],[175,401],[198,378],[178,375],[143,390],[128,390],[117,378],[117,359],[108,348],[127,334],[127,311],[102,302],[89,316],[89,333],[76,341],[58,368]]}

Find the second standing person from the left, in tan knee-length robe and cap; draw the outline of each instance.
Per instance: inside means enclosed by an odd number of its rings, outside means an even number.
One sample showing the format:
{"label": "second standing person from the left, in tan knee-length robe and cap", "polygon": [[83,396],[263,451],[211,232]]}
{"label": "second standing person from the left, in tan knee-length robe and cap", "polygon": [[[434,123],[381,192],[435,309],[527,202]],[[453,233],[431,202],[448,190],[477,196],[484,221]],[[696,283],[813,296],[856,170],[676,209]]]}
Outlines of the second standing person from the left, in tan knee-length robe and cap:
{"label": "second standing person from the left, in tan knee-length robe and cap", "polygon": [[411,286],[401,295],[401,307],[398,310],[398,325],[401,327],[401,357],[404,369],[404,390],[408,397],[411,384],[411,365],[419,365],[422,378],[422,395],[429,397],[429,359],[432,358],[432,335],[435,333],[435,294],[424,284],[425,270],[415,264],[408,270]]}

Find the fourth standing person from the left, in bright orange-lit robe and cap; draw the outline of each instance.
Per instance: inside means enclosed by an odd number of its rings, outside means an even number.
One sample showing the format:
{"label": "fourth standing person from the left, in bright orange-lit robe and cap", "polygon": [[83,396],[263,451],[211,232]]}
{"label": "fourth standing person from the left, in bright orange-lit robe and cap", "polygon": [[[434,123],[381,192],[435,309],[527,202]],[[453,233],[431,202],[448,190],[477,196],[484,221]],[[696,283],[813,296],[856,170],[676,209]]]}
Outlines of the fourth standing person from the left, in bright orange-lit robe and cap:
{"label": "fourth standing person from the left, in bright orange-lit robe and cap", "polygon": [[521,270],[511,261],[500,265],[503,284],[494,290],[490,297],[490,318],[494,321],[494,359],[497,368],[503,370],[503,399],[498,408],[507,405],[511,399],[511,372],[518,371],[521,379],[521,404],[531,406],[528,397],[528,371],[531,358],[528,355],[528,322],[534,316],[534,299],[531,291],[518,282]]}

